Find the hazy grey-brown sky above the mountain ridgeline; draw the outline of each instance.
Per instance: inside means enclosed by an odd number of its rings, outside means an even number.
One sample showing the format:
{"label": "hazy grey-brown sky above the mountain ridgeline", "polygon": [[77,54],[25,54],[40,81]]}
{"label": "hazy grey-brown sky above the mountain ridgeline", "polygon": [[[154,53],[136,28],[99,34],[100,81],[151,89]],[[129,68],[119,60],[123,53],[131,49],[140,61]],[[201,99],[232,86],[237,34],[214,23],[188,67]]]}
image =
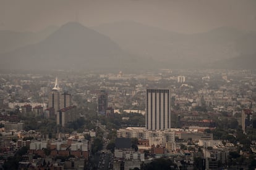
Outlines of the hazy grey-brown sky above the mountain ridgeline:
{"label": "hazy grey-brown sky above the mountain ridgeline", "polygon": [[0,0],[0,30],[38,31],[75,20],[85,26],[134,20],[181,33],[256,30],[256,0]]}

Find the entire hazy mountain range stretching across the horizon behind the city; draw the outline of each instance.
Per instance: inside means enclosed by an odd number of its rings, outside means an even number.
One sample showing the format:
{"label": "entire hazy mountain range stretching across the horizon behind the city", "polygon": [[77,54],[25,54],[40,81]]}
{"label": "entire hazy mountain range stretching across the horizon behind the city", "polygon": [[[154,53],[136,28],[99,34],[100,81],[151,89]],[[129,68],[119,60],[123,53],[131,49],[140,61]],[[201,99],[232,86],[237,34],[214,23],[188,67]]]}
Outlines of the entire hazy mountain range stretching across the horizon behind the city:
{"label": "entire hazy mountain range stretching across the horizon behind the city", "polygon": [[123,70],[254,68],[256,33],[218,28],[180,34],[122,21],[67,23],[40,33],[0,31],[1,68]]}

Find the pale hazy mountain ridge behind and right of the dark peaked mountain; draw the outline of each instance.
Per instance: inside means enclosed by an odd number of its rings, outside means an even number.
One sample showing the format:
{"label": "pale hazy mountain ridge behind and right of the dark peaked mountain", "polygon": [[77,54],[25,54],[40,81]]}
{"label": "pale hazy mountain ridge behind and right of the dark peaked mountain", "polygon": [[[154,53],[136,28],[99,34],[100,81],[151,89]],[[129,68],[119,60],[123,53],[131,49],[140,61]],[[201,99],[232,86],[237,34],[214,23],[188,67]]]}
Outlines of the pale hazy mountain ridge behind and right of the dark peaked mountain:
{"label": "pale hazy mountain ridge behind and right of the dark peaked mountain", "polygon": [[130,54],[159,60],[171,68],[198,68],[236,57],[240,54],[236,41],[245,34],[227,27],[180,34],[131,21],[108,23],[93,29],[109,36]]}

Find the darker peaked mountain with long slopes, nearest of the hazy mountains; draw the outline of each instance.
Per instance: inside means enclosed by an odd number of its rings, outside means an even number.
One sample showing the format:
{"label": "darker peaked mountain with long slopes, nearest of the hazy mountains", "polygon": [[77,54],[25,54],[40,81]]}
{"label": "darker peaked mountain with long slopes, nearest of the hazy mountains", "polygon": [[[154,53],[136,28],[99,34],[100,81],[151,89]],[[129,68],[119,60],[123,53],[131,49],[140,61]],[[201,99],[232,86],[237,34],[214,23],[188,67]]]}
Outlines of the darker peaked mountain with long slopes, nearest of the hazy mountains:
{"label": "darker peaked mountain with long slopes, nearest of the hazy mountains", "polygon": [[140,67],[107,36],[79,23],[67,23],[34,45],[1,54],[1,68],[105,70]]}

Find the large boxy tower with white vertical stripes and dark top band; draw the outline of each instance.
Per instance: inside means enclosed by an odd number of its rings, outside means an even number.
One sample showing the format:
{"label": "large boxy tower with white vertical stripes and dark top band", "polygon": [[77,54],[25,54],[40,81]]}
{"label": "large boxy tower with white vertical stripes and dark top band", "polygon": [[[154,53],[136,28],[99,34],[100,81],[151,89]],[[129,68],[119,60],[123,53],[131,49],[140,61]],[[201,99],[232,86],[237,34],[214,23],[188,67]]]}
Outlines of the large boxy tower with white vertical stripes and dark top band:
{"label": "large boxy tower with white vertical stripes and dark top band", "polygon": [[171,128],[169,89],[147,89],[146,95],[146,129]]}

